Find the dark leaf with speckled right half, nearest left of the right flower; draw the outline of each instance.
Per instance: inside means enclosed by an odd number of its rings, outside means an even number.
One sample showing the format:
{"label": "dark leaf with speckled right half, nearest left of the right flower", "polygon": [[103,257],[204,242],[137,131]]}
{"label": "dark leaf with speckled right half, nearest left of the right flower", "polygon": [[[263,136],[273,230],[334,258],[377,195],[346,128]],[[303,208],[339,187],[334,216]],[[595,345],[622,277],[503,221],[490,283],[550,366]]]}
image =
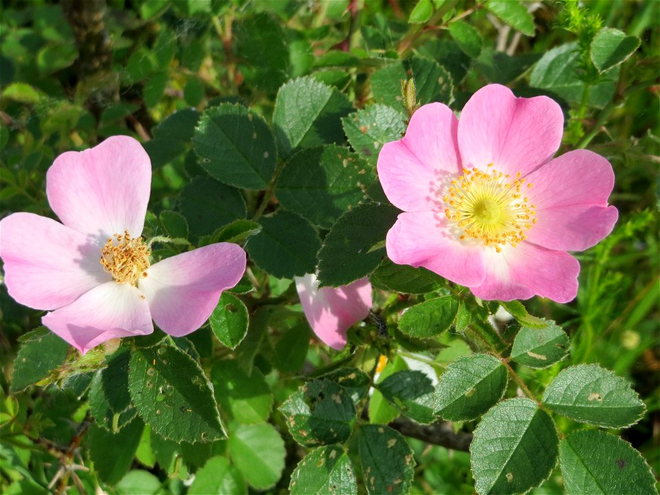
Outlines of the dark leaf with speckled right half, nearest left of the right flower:
{"label": "dark leaf with speckled right half, nearest left of the right flower", "polygon": [[305,149],[289,159],[275,194],[282,206],[322,228],[365,199],[366,186],[376,180],[373,169],[348,148]]}

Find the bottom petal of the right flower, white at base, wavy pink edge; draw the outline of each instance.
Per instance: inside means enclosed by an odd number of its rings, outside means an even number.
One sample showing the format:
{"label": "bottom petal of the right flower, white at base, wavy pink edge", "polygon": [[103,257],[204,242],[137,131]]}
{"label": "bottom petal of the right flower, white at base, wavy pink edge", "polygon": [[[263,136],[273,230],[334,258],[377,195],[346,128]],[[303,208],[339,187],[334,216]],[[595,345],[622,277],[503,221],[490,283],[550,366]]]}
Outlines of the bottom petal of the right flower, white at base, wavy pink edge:
{"label": "bottom petal of the right flower, white at base, wavy pink edge", "polygon": [[529,299],[537,294],[558,303],[568,303],[577,294],[580,263],[563,251],[551,251],[529,242],[501,253],[486,252],[487,274],[483,284],[470,287],[486,300]]}

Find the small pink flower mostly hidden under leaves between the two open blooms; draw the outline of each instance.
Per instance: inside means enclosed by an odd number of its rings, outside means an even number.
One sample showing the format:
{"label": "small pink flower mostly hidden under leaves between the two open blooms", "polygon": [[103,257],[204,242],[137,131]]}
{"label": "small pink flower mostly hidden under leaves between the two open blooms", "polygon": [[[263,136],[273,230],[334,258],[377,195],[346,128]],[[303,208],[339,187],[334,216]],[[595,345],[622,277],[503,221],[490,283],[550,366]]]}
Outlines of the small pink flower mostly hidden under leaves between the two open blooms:
{"label": "small pink flower mostly hidden under leaves between the two open blooms", "polygon": [[318,288],[314,274],[296,277],[296,289],[309,325],[316,336],[333,349],[343,349],[347,331],[369,316],[371,283],[360,278],[344,287]]}

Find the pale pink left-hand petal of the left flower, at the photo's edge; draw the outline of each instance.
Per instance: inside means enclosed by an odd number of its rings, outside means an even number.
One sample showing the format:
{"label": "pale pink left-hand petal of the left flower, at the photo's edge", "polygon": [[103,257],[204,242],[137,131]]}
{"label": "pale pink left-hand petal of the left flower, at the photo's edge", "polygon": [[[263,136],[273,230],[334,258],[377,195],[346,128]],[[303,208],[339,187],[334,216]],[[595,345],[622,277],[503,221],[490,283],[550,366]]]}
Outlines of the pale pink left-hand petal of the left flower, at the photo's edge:
{"label": "pale pink left-hand petal of the left flower, at the photo's edge", "polygon": [[100,246],[61,223],[14,213],[0,221],[0,228],[5,283],[10,296],[25,306],[56,309],[112,280],[99,263]]}

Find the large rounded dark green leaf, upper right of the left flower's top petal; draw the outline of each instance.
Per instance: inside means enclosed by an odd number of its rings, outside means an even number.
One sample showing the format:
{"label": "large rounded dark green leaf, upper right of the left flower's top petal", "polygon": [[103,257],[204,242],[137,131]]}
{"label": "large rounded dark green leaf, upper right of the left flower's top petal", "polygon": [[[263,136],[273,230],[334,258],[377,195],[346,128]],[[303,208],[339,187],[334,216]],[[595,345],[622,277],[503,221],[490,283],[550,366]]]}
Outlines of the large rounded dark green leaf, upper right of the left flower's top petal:
{"label": "large rounded dark green leaf, upper right of the left flower's top petal", "polygon": [[275,171],[275,137],[265,120],[240,104],[223,103],[201,115],[192,137],[199,164],[215,179],[265,189]]}

